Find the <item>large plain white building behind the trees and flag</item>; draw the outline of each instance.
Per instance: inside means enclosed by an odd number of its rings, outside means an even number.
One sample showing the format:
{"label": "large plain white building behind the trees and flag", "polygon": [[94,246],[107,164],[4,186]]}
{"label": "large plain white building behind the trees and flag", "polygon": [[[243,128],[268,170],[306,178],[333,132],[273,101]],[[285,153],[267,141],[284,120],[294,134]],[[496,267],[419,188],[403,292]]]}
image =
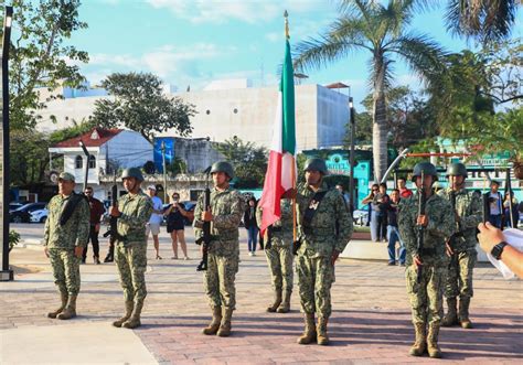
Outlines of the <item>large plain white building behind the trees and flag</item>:
{"label": "large plain white building behind the trees and flag", "polygon": [[[191,118],[192,138],[210,138],[223,142],[233,136],[242,140],[269,147],[276,115],[278,89],[276,86],[253,88],[238,80],[214,82],[202,92],[170,94],[195,106]],[[167,89],[168,90],[168,89]],[[172,90],[172,88],[171,88]],[[64,89],[65,99],[47,103],[41,110],[42,131],[51,131],[81,121],[93,114],[95,101],[108,96],[84,96]],[[92,95],[92,94],[90,94]],[[52,121],[51,116],[57,122]],[[343,144],[349,121],[348,97],[320,85],[296,86],[296,137],[299,150],[331,148]],[[153,121],[152,121],[153,122]],[[168,130],[161,136],[177,136]]]}

